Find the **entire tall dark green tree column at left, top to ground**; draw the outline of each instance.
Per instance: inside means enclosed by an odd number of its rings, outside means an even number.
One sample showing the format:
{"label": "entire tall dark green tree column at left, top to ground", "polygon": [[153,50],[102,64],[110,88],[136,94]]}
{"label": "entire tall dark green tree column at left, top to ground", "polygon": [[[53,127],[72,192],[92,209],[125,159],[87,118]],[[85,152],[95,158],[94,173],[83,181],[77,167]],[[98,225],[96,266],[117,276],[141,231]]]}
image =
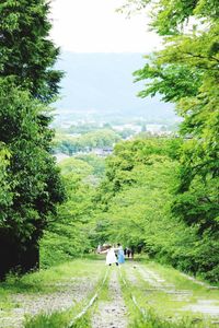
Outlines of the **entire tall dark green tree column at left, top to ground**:
{"label": "entire tall dark green tree column at left, top to ground", "polygon": [[0,3],[0,141],[11,157],[5,180],[11,202],[0,221],[0,277],[15,267],[38,266],[38,242],[64,187],[51,156],[54,132],[47,105],[62,72],[53,66],[59,49],[49,40],[46,0]]}

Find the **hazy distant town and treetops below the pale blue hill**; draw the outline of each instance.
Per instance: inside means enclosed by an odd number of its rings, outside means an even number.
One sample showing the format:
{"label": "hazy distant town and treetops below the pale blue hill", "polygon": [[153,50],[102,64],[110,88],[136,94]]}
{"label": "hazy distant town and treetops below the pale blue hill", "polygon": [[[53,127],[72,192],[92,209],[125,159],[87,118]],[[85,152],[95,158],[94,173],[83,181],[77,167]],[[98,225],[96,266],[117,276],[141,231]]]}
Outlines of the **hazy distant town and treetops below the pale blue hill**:
{"label": "hazy distant town and treetops below the pale blue hill", "polygon": [[57,162],[69,156],[94,154],[107,156],[122,140],[138,134],[168,137],[177,132],[180,119],[122,116],[116,113],[100,114],[95,110],[62,110],[53,122],[56,129],[54,155]]}

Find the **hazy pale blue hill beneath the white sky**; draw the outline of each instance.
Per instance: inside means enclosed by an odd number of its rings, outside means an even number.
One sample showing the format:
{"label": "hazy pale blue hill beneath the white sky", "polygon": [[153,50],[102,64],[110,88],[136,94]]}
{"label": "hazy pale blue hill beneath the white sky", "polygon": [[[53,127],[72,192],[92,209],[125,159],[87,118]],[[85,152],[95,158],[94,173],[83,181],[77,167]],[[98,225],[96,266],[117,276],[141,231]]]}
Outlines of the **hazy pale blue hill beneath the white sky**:
{"label": "hazy pale blue hill beneath the white sky", "polygon": [[132,72],[142,68],[142,54],[64,52],[57,67],[66,71],[61,82],[62,109],[117,113],[124,116],[174,119],[173,105],[158,97],[141,99],[142,83],[132,83]]}

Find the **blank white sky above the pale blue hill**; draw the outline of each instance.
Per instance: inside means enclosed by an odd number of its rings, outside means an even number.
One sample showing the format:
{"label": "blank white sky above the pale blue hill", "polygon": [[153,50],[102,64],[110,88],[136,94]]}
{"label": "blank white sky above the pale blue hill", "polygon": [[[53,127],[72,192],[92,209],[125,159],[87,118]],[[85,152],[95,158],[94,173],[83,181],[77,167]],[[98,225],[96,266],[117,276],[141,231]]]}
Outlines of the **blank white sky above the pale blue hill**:
{"label": "blank white sky above the pale blue hill", "polygon": [[146,15],[126,19],[115,12],[124,0],[53,0],[51,38],[73,52],[149,52],[159,37]]}

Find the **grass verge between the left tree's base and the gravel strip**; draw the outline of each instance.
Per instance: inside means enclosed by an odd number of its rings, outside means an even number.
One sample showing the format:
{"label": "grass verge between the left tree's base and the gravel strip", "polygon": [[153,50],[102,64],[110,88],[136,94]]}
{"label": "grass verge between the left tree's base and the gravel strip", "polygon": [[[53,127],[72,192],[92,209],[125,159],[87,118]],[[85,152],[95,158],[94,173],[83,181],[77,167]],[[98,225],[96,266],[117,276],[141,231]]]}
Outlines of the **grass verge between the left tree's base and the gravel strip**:
{"label": "grass verge between the left tree's base and the gravel strip", "polygon": [[[9,274],[4,282],[0,283],[0,309],[1,317],[11,316],[12,311],[15,307],[22,307],[22,304],[14,303],[13,295],[41,295],[53,294],[65,288],[68,283],[70,288],[77,285],[78,282],[84,281],[96,281],[96,277],[102,276],[105,267],[99,260],[93,259],[76,259],[70,262],[61,263],[49,269],[44,269],[37,272],[32,272],[19,277],[18,274]],[[76,306],[77,308],[77,306]],[[48,321],[48,315],[42,315],[45,323]],[[66,314],[55,314],[53,320],[59,320],[59,317],[65,320]],[[67,316],[68,317],[68,316]],[[42,319],[39,319],[39,323]],[[41,324],[38,324],[39,327]],[[47,325],[47,324],[45,324]],[[56,327],[60,327],[57,324]],[[33,326],[35,327],[35,326]],[[47,327],[47,326],[45,326]]]}

